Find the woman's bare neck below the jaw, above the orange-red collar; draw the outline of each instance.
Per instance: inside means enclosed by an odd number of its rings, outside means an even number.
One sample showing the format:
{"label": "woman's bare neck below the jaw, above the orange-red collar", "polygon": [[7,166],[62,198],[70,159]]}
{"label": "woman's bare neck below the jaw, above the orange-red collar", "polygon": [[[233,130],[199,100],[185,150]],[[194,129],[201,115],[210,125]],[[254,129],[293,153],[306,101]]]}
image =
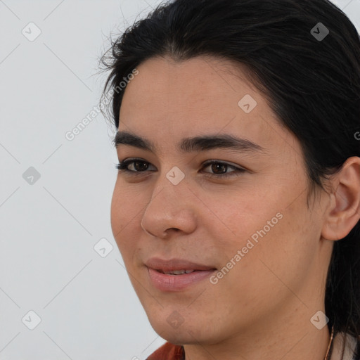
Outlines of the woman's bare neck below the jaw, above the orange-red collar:
{"label": "woman's bare neck below the jaw, above the orange-red collar", "polygon": [[299,305],[297,300],[297,307],[285,315],[269,316],[224,341],[184,345],[185,360],[324,360],[330,342],[328,326],[318,330],[310,321],[318,309]]}

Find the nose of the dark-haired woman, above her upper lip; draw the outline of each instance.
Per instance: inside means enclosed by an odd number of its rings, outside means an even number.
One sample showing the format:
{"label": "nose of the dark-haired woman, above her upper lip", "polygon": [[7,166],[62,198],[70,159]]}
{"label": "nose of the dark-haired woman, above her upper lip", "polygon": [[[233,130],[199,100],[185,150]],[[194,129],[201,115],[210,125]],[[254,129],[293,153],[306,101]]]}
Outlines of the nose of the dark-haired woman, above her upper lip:
{"label": "nose of the dark-haired woman, above her upper lip", "polygon": [[[160,184],[161,183],[161,184]],[[163,176],[156,188],[160,188],[146,206],[141,228],[157,238],[167,238],[172,233],[191,233],[195,230],[195,195],[185,181],[173,185]]]}

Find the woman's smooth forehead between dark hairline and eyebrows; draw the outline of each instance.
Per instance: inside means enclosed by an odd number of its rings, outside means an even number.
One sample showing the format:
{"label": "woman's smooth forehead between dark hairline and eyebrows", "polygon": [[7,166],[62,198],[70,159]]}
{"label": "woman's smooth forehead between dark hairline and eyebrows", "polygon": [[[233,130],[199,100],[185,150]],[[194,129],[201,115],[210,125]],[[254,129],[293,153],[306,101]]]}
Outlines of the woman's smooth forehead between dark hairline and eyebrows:
{"label": "woman's smooth forehead between dark hairline and eyebrows", "polygon": [[[154,143],[236,134],[265,148],[292,137],[247,79],[246,68],[229,60],[150,58],[137,70],[124,92],[119,130],[143,134]],[[256,102],[250,113],[239,105],[244,98],[252,106]]]}

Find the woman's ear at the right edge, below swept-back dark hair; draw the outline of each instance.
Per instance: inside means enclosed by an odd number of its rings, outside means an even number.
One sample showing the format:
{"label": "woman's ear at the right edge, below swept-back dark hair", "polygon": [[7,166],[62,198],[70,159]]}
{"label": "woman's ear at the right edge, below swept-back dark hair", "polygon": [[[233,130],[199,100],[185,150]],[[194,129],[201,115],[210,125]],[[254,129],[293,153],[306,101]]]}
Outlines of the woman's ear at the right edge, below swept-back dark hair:
{"label": "woman's ear at the right edge, below swept-back dark hair", "polygon": [[324,214],[321,236],[327,240],[340,240],[360,219],[360,158],[348,158],[331,182],[333,192]]}

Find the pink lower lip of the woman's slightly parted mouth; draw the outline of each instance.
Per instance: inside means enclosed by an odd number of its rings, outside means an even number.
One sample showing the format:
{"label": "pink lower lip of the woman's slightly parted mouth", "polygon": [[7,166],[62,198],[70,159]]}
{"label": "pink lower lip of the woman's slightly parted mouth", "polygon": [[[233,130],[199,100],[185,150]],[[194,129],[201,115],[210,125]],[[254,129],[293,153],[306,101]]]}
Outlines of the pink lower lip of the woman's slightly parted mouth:
{"label": "pink lower lip of the woman's slightly parted mouth", "polygon": [[193,271],[188,274],[169,275],[148,268],[150,281],[154,287],[162,291],[179,291],[188,286],[209,278],[215,270]]}

